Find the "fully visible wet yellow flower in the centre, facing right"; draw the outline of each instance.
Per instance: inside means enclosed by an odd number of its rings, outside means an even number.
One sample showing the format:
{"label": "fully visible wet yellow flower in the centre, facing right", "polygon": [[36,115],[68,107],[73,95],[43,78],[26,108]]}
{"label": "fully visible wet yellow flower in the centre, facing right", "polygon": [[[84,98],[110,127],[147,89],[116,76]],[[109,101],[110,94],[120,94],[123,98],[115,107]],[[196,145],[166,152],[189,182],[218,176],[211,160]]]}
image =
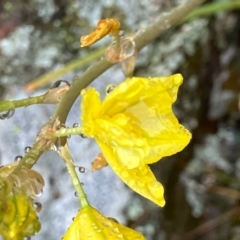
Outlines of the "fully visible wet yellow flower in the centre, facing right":
{"label": "fully visible wet yellow flower in the centre, facing right", "polygon": [[103,102],[94,88],[82,91],[83,133],[130,188],[159,206],[164,189],[147,164],[181,151],[191,139],[172,112],[182,80],[180,74],[129,78]]}

